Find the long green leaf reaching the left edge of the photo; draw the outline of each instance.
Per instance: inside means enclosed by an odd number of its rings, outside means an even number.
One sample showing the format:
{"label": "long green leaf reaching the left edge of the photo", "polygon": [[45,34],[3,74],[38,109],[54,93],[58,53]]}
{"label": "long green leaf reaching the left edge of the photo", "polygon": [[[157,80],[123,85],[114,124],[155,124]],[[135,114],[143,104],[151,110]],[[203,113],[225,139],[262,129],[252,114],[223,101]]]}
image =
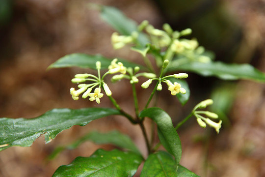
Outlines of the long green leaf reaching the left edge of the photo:
{"label": "long green leaf reaching the left edge of the photo", "polygon": [[46,143],[50,143],[58,133],[73,125],[84,126],[97,118],[119,114],[111,108],[53,109],[37,118],[0,118],[0,150],[29,147],[43,134]]}

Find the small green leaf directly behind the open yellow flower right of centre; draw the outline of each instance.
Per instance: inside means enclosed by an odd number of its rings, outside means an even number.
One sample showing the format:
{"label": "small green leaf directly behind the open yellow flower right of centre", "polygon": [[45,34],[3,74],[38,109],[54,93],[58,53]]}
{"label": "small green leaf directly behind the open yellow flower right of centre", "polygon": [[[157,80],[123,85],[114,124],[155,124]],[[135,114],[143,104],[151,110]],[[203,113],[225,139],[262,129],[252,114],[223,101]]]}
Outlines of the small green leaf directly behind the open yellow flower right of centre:
{"label": "small green leaf directly behind the open yellow flower right of centre", "polygon": [[180,103],[184,106],[187,103],[189,96],[190,96],[190,90],[189,90],[187,82],[184,79],[176,79],[173,77],[168,78],[168,80],[170,80],[172,83],[174,83],[174,82],[179,83],[181,85],[181,87],[186,90],[185,94],[182,94],[182,93],[176,94]]}

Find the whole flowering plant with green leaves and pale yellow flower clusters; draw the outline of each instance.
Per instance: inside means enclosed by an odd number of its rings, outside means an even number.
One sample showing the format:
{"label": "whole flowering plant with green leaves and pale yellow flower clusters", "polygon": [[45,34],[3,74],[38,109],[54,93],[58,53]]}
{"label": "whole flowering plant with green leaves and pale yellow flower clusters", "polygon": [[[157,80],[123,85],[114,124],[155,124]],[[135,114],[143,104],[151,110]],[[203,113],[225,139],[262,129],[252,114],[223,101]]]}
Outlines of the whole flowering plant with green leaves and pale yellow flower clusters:
{"label": "whole flowering plant with green leaves and pale yellow flower clusters", "polygon": [[[97,71],[97,75],[89,73],[75,75],[72,83],[78,84],[79,89],[70,89],[74,100],[79,100],[81,95],[83,99],[100,104],[100,99],[106,94],[114,108],[53,109],[34,119],[1,118],[0,150],[12,146],[31,146],[42,134],[45,134],[45,141],[49,143],[58,133],[73,125],[84,126],[98,118],[121,115],[132,124],[140,126],[148,152],[147,157],[127,135],[118,131],[106,134],[91,132],[84,139],[95,143],[113,144],[126,151],[98,149],[90,157],[77,157],[71,164],[60,166],[53,176],[132,177],[139,165],[144,162],[141,177],[197,177],[180,165],[182,146],[177,130],[194,116],[199,126],[205,128],[209,125],[219,133],[222,120],[217,120],[217,114],[202,110],[213,104],[212,99],[198,103],[191,113],[176,125],[173,125],[170,116],[164,110],[150,106],[152,99],[155,99],[154,96],[158,91],[166,87],[171,95],[176,95],[184,105],[190,94],[185,81],[188,74],[184,72],[195,72],[226,80],[250,79],[263,82],[265,74],[248,64],[225,64],[212,61],[212,56],[199,46],[196,39],[184,38],[191,34],[191,29],[174,31],[168,24],[164,24],[162,29],[155,29],[148,21],[136,25],[115,8],[96,7],[101,11],[103,19],[118,31],[111,36],[113,48],[122,49],[130,45],[132,51],[142,56],[145,66],[124,59],[106,59],[100,55],[86,54],[71,54],[57,60],[50,68],[79,66]],[[152,64],[148,54],[153,56],[155,64]],[[184,72],[177,72],[180,70]],[[134,116],[125,112],[112,97],[107,75],[111,75],[110,81],[113,83],[122,79],[129,80],[134,100]],[[139,77],[146,78],[145,82],[140,83],[142,89],[151,88],[151,84],[155,83],[144,108],[138,106],[136,85],[139,84]],[[160,141],[157,144],[147,136],[143,123],[146,118],[151,118],[157,124]],[[155,134],[154,130],[152,134]],[[164,150],[158,150],[161,145]]]}

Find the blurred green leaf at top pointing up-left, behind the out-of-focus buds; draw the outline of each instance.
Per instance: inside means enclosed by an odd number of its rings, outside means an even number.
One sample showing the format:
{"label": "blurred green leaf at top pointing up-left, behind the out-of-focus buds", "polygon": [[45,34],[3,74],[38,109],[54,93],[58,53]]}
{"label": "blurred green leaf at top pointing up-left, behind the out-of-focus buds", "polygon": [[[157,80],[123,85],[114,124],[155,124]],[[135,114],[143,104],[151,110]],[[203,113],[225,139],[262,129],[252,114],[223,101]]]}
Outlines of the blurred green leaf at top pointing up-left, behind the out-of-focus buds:
{"label": "blurred green leaf at top pointing up-left, behind the out-of-focus buds", "polygon": [[[101,6],[100,9],[102,19],[120,34],[131,35],[133,31],[137,31],[137,23],[126,17],[124,13],[117,8]],[[145,46],[148,43],[148,38],[140,32],[138,42],[141,46]]]}

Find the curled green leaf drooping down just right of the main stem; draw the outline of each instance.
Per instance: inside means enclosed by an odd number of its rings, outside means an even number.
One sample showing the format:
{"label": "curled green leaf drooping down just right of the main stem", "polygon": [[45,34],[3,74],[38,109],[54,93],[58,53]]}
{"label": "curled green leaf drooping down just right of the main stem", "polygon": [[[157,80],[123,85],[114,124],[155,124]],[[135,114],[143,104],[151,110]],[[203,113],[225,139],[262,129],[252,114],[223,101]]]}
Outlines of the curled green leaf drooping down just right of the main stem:
{"label": "curled green leaf drooping down just right of the main stem", "polygon": [[182,154],[181,141],[169,115],[162,109],[153,107],[142,111],[140,117],[152,118],[157,123],[162,135],[162,141],[159,136],[161,144],[174,155],[176,163],[179,164]]}

